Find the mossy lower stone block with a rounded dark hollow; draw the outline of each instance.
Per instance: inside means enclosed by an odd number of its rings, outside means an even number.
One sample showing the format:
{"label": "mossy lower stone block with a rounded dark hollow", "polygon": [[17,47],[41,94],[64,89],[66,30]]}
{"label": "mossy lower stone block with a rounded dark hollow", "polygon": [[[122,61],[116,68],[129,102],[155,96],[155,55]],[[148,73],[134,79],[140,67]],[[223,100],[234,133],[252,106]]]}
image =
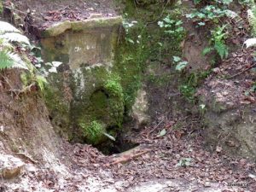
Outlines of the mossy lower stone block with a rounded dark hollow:
{"label": "mossy lower stone block with a rounded dark hollow", "polygon": [[91,140],[84,125],[88,127],[95,120],[102,122],[106,129],[120,127],[124,115],[124,94],[117,74],[103,66],[82,67],[73,75],[72,89],[72,119],[79,128],[76,133],[82,130],[84,141]]}

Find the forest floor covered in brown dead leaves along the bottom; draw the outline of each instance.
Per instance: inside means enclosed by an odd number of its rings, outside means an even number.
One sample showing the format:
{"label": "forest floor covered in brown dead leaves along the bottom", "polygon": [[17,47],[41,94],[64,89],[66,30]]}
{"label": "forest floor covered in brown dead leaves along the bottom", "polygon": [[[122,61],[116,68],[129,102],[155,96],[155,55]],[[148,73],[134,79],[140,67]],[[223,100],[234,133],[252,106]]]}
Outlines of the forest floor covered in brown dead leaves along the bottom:
{"label": "forest floor covered in brown dead leaves along the bottom", "polygon": [[[164,136],[160,129],[166,128]],[[151,129],[152,130],[152,129]],[[256,191],[255,164],[234,159],[222,148],[208,152],[198,132],[166,125],[137,137],[139,147],[104,155],[86,144],[64,143],[56,165],[25,160],[26,172],[1,183],[3,191]],[[54,157],[53,157],[54,158]]]}

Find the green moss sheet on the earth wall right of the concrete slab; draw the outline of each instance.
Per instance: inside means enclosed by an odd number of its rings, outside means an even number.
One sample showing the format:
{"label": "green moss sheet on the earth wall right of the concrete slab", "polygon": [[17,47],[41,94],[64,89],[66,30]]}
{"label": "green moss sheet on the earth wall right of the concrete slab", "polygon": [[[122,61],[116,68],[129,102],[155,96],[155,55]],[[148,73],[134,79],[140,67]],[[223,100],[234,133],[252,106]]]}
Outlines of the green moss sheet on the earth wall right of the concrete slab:
{"label": "green moss sheet on the earth wall right of the concrete slab", "polygon": [[[144,3],[153,2],[145,1]],[[147,82],[148,79],[155,79],[160,84],[168,82],[165,80],[170,79],[170,74],[166,74],[166,77],[152,77],[153,75],[149,74],[151,77],[148,78],[145,71],[152,62],[157,62],[157,68],[159,68],[163,60],[169,60],[170,62],[166,65],[170,65],[173,55],[181,56],[180,44],[185,32],[170,35],[157,25],[157,21],[162,20],[166,15],[171,15],[173,20],[180,20],[182,15],[180,9],[163,12],[161,6],[135,6],[134,1],[125,1],[124,15],[125,23],[130,23],[131,20],[136,20],[137,23],[131,27],[125,25],[125,38],[119,42],[114,71],[120,74],[125,110],[129,113],[137,96],[137,90],[141,88],[143,82]]]}

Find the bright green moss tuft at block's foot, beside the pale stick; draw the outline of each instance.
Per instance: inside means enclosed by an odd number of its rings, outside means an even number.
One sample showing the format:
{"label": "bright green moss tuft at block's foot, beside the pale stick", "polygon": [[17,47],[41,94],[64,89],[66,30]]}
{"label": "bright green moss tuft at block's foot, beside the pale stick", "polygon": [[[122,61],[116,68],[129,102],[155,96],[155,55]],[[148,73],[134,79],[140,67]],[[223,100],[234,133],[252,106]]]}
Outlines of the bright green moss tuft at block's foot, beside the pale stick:
{"label": "bright green moss tuft at block's foot, beside the pale stick", "polygon": [[102,141],[105,132],[104,125],[96,120],[93,120],[89,125],[79,123],[79,126],[83,129],[84,137],[87,143],[98,144]]}

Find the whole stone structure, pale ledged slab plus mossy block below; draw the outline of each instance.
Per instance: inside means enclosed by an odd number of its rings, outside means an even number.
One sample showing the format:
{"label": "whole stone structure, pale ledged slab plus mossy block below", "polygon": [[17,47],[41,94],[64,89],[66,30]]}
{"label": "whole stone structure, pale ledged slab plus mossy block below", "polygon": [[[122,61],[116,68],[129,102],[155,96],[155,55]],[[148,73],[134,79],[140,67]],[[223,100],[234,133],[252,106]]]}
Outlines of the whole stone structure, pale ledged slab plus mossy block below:
{"label": "whole stone structure, pale ledged slab plus mossy block below", "polygon": [[45,100],[55,127],[67,137],[99,144],[122,124],[125,100],[113,73],[121,17],[64,21],[40,39],[44,61],[61,61],[49,75]]}

